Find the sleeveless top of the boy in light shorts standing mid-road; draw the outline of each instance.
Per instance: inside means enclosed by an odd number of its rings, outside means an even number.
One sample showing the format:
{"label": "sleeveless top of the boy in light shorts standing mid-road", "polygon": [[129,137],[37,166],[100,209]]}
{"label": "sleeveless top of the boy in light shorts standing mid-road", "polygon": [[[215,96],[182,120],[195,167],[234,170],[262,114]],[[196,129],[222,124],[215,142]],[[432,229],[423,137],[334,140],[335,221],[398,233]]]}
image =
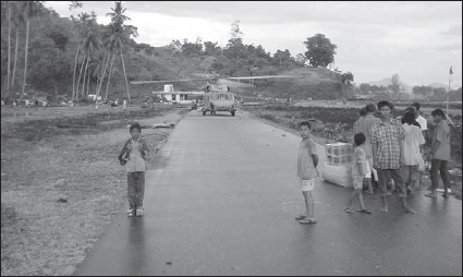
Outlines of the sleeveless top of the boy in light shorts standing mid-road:
{"label": "sleeveless top of the boy in light shorts standing mid-road", "polygon": [[318,176],[312,155],[317,154],[317,146],[310,138],[303,140],[297,152],[297,177],[303,180],[314,179]]}

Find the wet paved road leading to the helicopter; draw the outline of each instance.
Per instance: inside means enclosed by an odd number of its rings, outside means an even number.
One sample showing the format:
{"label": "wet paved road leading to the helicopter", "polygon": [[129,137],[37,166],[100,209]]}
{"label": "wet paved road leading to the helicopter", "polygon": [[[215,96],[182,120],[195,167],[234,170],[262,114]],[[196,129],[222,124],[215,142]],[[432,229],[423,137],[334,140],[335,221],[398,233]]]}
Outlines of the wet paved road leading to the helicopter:
{"label": "wet paved road leading to the helicopter", "polygon": [[[462,202],[398,197],[345,214],[351,189],[318,178],[316,225],[300,225],[300,137],[242,112],[188,113],[147,173],[145,217],[115,216],[75,275],[462,275]],[[320,150],[322,148],[320,147]]]}

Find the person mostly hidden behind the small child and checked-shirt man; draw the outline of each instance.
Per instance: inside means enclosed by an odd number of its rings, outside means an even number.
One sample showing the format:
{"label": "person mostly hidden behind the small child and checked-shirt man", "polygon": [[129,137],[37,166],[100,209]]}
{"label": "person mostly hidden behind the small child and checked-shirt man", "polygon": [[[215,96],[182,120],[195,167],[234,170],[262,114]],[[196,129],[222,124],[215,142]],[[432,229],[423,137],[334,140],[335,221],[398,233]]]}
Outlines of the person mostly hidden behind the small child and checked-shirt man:
{"label": "person mostly hidden behind the small child and checked-shirt man", "polygon": [[375,117],[376,112],[376,106],[375,104],[367,104],[365,106],[365,112],[366,115],[364,117],[361,117],[357,121],[354,122],[353,131],[354,134],[363,133],[365,135],[365,144],[363,146],[365,154],[366,154],[366,173],[365,173],[365,183],[367,184],[367,193],[373,194],[373,181],[371,181],[371,173],[375,178],[375,181],[378,183],[378,172],[375,168],[373,168],[373,149],[371,149],[371,125],[375,123],[381,122],[381,120],[377,117]]}

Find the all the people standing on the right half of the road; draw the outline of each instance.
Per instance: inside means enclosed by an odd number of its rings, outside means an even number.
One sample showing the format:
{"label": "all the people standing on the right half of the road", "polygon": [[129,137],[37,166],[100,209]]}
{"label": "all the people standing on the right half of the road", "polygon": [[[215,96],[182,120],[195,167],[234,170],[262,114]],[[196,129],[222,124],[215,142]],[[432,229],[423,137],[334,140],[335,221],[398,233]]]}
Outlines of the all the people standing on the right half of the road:
{"label": "all the people standing on the right half of the road", "polygon": [[[371,214],[365,207],[363,200],[364,184],[368,188],[368,193],[374,193],[371,177],[377,181],[380,189],[382,202],[381,210],[388,212],[387,195],[390,194],[387,186],[393,181],[395,191],[401,200],[402,208],[405,213],[414,214],[406,202],[409,193],[414,193],[414,189],[419,188],[419,169],[424,167],[422,145],[425,143],[422,124],[426,120],[419,116],[419,104],[414,104],[405,109],[401,120],[391,117],[393,105],[389,101],[379,101],[366,105],[362,109],[361,119],[354,123],[354,153],[352,161],[353,189],[345,212],[352,214],[352,205],[358,200],[357,212]],[[375,116],[377,113],[377,117]],[[435,122],[432,142],[427,159],[431,164],[431,191],[425,196],[437,197],[440,173],[443,182],[444,197],[448,196],[450,178],[448,161],[450,160],[450,129],[446,122],[447,115],[441,109],[431,112]],[[423,122],[424,120],[424,122]],[[302,122],[300,133],[302,142],[297,155],[297,177],[301,179],[301,190],[304,195],[306,212],[295,219],[300,224],[317,222],[314,215],[314,191],[315,178],[318,176],[316,167],[318,156],[315,143],[309,138],[310,124]]]}

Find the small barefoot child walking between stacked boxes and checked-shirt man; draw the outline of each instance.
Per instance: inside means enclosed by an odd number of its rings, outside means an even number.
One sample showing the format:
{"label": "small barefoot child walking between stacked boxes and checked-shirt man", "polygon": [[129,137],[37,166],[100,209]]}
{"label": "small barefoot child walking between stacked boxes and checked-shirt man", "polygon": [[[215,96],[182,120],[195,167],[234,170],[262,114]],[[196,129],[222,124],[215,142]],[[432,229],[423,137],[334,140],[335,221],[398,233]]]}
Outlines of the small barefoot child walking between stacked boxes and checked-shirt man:
{"label": "small barefoot child walking between stacked boxes and checked-shirt man", "polygon": [[365,135],[363,133],[357,133],[354,135],[355,149],[354,157],[352,161],[352,179],[354,191],[351,193],[351,197],[349,198],[348,206],[345,207],[345,213],[354,213],[352,209],[352,203],[358,197],[358,203],[361,208],[357,209],[360,213],[371,214],[369,209],[365,208],[364,198],[362,195],[363,183],[365,179],[365,172],[367,170],[366,165],[366,154],[363,148],[365,145]]}

